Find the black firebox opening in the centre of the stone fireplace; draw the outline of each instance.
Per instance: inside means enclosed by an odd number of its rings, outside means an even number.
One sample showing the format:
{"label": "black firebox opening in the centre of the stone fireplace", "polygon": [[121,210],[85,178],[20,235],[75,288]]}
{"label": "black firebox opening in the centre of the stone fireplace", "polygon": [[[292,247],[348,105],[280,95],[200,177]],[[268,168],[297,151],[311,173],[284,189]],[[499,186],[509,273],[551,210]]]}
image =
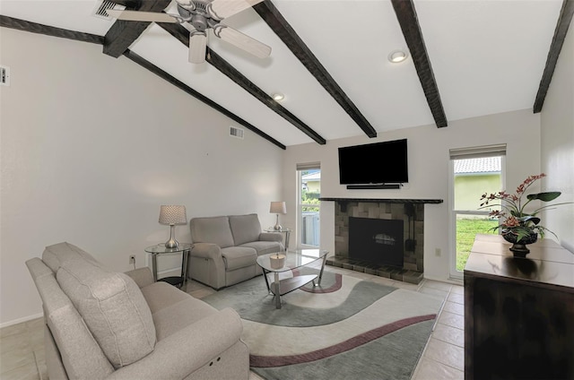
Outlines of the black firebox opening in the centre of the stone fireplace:
{"label": "black firebox opening in the centre of the stone fireplace", "polygon": [[403,220],[349,218],[349,258],[403,268]]}

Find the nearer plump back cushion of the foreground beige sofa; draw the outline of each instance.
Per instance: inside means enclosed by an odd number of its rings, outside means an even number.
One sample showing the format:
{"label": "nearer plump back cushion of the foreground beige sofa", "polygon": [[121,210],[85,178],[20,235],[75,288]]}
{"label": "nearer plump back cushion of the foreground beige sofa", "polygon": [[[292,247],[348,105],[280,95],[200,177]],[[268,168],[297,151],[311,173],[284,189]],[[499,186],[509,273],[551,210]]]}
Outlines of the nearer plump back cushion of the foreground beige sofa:
{"label": "nearer plump back cushion of the foreground beige sofa", "polygon": [[129,276],[75,258],[61,263],[57,281],[114,367],[152,352],[156,342],[152,313]]}

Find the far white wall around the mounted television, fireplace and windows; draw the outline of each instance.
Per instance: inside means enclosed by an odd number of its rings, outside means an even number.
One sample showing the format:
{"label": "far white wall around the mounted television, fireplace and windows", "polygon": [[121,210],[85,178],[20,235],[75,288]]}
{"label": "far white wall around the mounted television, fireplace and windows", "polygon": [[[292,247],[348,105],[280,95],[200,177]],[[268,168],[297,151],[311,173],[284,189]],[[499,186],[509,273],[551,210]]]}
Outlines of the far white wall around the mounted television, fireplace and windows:
{"label": "far white wall around the mounted television, fireplace and windows", "polygon": [[[337,148],[360,143],[408,139],[409,183],[400,190],[347,190],[339,185]],[[424,265],[425,277],[448,280],[448,150],[507,143],[507,184],[515,188],[524,178],[540,172],[540,116],[531,110],[508,112],[486,117],[474,117],[450,122],[446,128],[424,125],[379,134],[376,139],[366,136],[287,148],[283,161],[284,196],[288,201],[283,226],[296,222],[296,188],[292,178],[298,162],[321,162],[321,196],[352,198],[411,198],[443,199],[441,204],[425,205]],[[373,168],[392,162],[363,162]],[[478,207],[480,200],[476,200]],[[335,252],[335,205],[321,204],[321,246]],[[294,241],[291,242],[294,245]],[[435,256],[435,249],[442,252]]]}

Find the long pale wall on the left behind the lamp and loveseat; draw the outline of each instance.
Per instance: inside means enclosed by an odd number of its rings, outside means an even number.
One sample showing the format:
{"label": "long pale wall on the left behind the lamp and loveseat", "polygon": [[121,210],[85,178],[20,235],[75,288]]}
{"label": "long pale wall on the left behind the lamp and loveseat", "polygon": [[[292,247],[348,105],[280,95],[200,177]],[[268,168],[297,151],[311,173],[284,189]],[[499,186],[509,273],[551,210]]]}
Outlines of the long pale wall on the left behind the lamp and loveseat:
{"label": "long pale wall on the left behind the lamp and loveseat", "polygon": [[[118,271],[169,237],[161,204],[187,218],[257,212],[274,224],[283,150],[101,46],[0,28],[0,326],[41,313],[24,264],[69,241]],[[240,125],[236,125],[241,127]],[[179,241],[189,241],[178,226]],[[160,270],[180,259],[160,259]]]}

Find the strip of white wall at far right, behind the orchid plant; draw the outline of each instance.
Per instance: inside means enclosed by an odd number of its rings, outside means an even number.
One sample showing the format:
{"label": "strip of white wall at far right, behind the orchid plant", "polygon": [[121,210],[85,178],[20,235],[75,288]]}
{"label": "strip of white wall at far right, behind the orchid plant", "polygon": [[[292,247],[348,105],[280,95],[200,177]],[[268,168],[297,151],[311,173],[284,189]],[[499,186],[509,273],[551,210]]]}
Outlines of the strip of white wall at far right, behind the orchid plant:
{"label": "strip of white wall at far right, behind the orchid plant", "polygon": [[[542,168],[544,190],[561,191],[554,201],[574,202],[574,28],[562,46],[542,109]],[[544,212],[544,226],[574,253],[574,204]],[[548,237],[553,238],[552,234]]]}

